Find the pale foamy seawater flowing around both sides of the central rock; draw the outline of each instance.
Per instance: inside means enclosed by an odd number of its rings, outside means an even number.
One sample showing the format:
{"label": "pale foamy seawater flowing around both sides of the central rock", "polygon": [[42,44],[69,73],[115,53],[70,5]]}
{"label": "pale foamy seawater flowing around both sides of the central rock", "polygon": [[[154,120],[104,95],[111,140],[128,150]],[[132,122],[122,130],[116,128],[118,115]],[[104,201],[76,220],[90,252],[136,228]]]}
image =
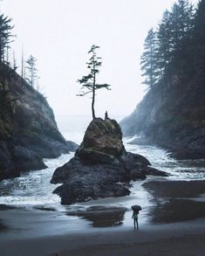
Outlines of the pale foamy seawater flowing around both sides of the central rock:
{"label": "pale foamy seawater flowing around both sides of the central rock", "polygon": [[[80,143],[86,125],[87,121],[79,128],[68,130],[64,133],[65,138]],[[132,140],[133,137],[124,138],[127,151],[146,156],[154,168],[167,171],[170,174],[168,177],[148,176],[147,180],[205,180],[205,160],[177,161],[169,156],[164,149],[149,145],[129,144]],[[98,217],[106,219],[106,214],[111,214],[111,211],[113,222],[111,221],[107,225],[122,225],[122,223],[131,225],[130,207],[133,204],[140,204],[143,205],[140,217],[143,222],[147,222],[147,218],[149,218],[147,211],[154,203],[152,196],[141,186],[145,181],[133,182],[130,196],[91,200],[70,206],[61,205],[60,198],[52,193],[59,184],[51,184],[51,176],[56,168],[67,163],[73,156],[74,153],[71,153],[56,159],[44,159],[44,163],[48,166],[46,170],[28,171],[20,177],[2,181],[0,183],[0,204],[13,205],[27,210],[51,209],[61,213],[66,212],[66,216],[75,217],[75,219],[84,218],[89,223],[92,222],[92,225],[94,223],[97,226],[101,225],[98,223]],[[129,211],[124,209],[129,209]],[[89,214],[87,214],[87,210]],[[86,214],[84,215],[84,213]]]}

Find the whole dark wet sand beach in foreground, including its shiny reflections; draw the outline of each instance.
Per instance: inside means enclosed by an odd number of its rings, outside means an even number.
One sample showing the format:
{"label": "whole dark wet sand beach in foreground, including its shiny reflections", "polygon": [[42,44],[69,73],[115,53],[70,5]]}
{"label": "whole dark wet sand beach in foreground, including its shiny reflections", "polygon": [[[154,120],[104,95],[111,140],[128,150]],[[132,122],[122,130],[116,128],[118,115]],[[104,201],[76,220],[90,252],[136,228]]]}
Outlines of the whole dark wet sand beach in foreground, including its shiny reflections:
{"label": "whole dark wet sand beach in foreground, including its shiny reflections", "polygon": [[204,255],[205,182],[155,181],[145,188],[153,204],[136,231],[131,219],[126,223],[132,211],[120,206],[59,212],[2,205],[1,255]]}

